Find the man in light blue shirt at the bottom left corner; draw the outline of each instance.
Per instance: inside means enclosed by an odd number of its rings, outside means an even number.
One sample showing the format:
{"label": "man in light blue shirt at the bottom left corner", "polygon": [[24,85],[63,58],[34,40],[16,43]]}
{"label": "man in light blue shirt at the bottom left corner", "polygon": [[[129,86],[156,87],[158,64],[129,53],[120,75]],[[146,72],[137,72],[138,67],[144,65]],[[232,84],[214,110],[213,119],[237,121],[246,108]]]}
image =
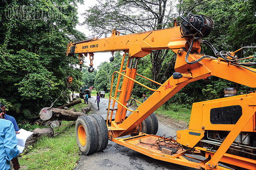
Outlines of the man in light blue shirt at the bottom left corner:
{"label": "man in light blue shirt at the bottom left corner", "polygon": [[[0,109],[0,117],[3,115]],[[14,170],[20,168],[17,156],[17,138],[14,125],[9,120],[0,119],[0,170],[10,170],[10,160],[14,164]]]}

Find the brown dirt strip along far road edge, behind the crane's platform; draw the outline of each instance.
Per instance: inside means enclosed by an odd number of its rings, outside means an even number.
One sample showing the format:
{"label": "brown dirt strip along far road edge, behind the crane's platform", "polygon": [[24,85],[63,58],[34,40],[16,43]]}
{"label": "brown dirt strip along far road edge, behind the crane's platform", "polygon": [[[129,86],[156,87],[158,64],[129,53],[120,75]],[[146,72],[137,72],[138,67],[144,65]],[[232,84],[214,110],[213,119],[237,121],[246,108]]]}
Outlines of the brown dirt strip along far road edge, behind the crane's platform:
{"label": "brown dirt strip along far road edge, behind the crane's platform", "polygon": [[173,127],[176,130],[183,130],[188,128],[188,123],[181,120],[175,120],[171,117],[168,117],[165,114],[156,114],[156,117],[159,121],[163,122],[164,124],[170,127]]}

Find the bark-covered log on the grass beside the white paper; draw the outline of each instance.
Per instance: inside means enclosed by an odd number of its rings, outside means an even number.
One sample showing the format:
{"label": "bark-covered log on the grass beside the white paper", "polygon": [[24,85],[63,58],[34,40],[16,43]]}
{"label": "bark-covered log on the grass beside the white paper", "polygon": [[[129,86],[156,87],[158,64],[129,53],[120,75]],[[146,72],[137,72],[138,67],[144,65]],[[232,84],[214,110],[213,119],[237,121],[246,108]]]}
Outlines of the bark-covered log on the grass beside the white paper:
{"label": "bark-covered log on the grass beside the white paper", "polygon": [[52,127],[46,127],[44,129],[36,128],[32,132],[33,134],[26,140],[23,154],[28,153],[28,150],[30,148],[28,146],[34,145],[38,141],[38,139],[40,139],[41,137],[43,136],[53,137],[54,135],[54,131]]}

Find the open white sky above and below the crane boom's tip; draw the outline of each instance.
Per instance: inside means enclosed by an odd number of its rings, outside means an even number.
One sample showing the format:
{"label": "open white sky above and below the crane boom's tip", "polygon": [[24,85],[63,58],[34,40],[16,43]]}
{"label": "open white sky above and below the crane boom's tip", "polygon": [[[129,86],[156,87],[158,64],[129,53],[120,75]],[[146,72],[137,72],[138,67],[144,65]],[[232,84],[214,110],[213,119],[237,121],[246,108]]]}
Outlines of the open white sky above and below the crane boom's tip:
{"label": "open white sky above and below the crane boom's tip", "polygon": [[[82,17],[82,13],[86,12],[86,10],[89,9],[89,7],[92,7],[97,4],[97,0],[84,0],[84,4],[78,4],[78,20],[79,23],[84,22],[84,18]],[[90,37],[91,35],[94,35],[94,33],[86,28],[86,25],[80,26],[76,25],[76,30],[79,30],[80,32],[84,33],[86,37]],[[104,36],[103,36],[104,37]],[[94,53],[94,59],[93,59],[93,67],[97,69],[97,67],[100,65],[100,63],[109,61],[109,58],[112,57],[111,52],[104,52],[104,53]],[[89,66],[90,60],[89,55],[84,59],[84,64],[86,66]]]}

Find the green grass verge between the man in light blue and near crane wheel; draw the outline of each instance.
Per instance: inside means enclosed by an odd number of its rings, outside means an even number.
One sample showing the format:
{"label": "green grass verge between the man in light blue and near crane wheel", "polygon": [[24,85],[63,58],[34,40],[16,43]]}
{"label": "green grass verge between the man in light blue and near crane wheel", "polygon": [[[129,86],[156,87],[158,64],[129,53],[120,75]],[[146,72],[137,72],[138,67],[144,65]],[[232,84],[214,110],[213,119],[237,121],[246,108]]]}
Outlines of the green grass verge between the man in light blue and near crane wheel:
{"label": "green grass verge between the man in light blue and near crane wheel", "polygon": [[43,137],[27,154],[19,157],[21,170],[71,170],[79,160],[75,122],[62,121],[55,137]]}

